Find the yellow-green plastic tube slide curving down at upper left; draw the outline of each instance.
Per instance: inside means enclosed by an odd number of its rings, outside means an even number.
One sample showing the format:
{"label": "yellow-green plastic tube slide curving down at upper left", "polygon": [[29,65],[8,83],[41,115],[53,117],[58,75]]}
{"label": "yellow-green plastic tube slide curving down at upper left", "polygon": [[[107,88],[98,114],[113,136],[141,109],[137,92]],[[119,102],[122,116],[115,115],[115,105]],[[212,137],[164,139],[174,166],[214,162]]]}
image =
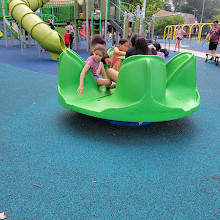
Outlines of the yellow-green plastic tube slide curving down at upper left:
{"label": "yellow-green plastic tube slide curving down at upper left", "polygon": [[47,2],[49,0],[11,0],[8,5],[11,16],[50,53],[53,60],[59,60],[66,50],[62,37],[33,12]]}

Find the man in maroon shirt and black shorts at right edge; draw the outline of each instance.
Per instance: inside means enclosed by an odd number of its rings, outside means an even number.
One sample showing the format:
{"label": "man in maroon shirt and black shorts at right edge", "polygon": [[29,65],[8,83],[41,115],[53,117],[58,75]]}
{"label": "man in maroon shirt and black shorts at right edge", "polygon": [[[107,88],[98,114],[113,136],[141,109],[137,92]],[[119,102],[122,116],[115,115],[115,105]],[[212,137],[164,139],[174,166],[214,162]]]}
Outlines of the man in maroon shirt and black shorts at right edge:
{"label": "man in maroon shirt and black shorts at right edge", "polygon": [[[210,29],[208,35],[205,38],[205,41],[210,37],[209,50],[211,54],[215,55],[218,44],[220,44],[220,27],[218,26],[218,21],[213,21],[213,27]],[[211,57],[210,60],[213,60],[214,57]]]}

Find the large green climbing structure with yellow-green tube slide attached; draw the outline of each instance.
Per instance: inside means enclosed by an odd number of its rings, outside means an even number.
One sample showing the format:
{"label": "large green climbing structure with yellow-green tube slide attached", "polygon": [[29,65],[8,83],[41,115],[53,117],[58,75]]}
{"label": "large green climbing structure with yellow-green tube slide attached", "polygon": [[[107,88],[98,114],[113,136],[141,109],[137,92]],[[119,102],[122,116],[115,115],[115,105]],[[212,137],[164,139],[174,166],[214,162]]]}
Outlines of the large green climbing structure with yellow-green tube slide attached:
{"label": "large green climbing structure with yellow-green tube slide attached", "polygon": [[[118,42],[119,35],[127,37],[128,7],[135,8],[131,4],[121,2],[120,0],[85,0],[85,1],[63,1],[49,2],[50,0],[2,0],[2,14],[4,22],[4,37],[6,47],[8,39],[6,31],[10,30],[12,45],[14,37],[21,43],[21,48],[26,47],[26,35],[28,32],[28,41],[30,46],[30,38],[36,40],[42,48],[48,51],[54,60],[58,60],[60,54],[65,51],[65,45],[62,36],[53,31],[48,25],[47,20],[54,17],[55,26],[63,27],[66,20],[74,23],[75,28],[75,50],[79,44],[79,27],[84,22],[86,33],[86,50],[90,48],[90,38],[94,34],[104,33],[107,39],[107,28],[112,26],[112,42]],[[79,4],[80,3],[80,4]],[[37,15],[36,10],[40,9]],[[139,7],[140,11],[140,7]],[[144,11],[144,10],[143,10]],[[81,16],[80,16],[81,14]],[[137,13],[134,22],[134,32],[141,32],[143,17],[140,12]],[[90,27],[90,28],[86,28]],[[63,33],[62,33],[63,34]]]}

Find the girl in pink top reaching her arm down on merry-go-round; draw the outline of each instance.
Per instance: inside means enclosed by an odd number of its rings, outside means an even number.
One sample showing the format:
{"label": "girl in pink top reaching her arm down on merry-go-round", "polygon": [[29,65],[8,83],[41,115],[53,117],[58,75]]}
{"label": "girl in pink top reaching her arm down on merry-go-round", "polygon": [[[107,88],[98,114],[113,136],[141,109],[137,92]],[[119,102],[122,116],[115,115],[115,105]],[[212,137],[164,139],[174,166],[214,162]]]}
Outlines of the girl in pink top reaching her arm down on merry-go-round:
{"label": "girl in pink top reaching her arm down on merry-go-round", "polygon": [[[80,84],[79,88],[77,89],[78,93],[82,94],[84,92],[84,78],[88,70],[92,72],[98,86],[111,85],[112,81],[107,78],[104,65],[101,62],[101,59],[104,57],[105,54],[106,49],[103,45],[98,44],[93,48],[93,55],[86,60],[86,65],[84,66],[80,74]],[[103,78],[98,78],[100,74]]]}

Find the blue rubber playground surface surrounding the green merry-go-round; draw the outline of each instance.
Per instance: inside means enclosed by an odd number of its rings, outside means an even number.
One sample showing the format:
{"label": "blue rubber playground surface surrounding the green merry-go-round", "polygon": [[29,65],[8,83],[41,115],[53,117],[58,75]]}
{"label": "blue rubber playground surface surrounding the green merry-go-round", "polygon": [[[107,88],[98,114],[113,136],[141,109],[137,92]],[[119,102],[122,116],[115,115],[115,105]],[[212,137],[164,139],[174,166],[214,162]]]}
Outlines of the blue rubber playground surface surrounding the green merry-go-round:
{"label": "blue rubber playground surface surrounding the green merry-go-round", "polygon": [[198,112],[121,127],[60,106],[58,62],[47,53],[39,59],[37,46],[21,55],[19,45],[3,45],[0,213],[7,220],[220,219],[220,66],[196,57]]}

